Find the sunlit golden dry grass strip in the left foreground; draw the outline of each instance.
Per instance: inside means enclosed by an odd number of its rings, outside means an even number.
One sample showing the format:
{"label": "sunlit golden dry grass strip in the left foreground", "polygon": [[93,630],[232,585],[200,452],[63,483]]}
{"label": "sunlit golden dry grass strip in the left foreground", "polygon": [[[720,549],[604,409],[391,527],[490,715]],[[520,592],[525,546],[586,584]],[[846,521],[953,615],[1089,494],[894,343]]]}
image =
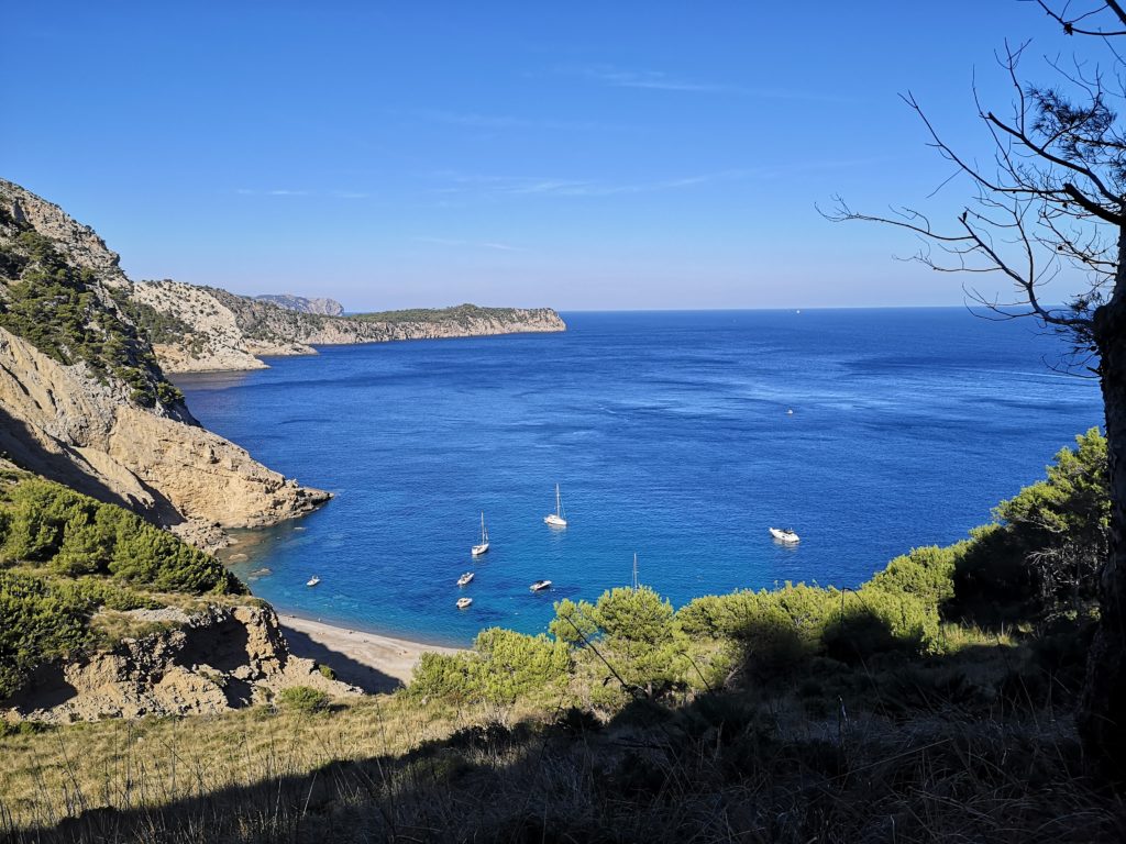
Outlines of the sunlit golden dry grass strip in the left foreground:
{"label": "sunlit golden dry grass strip in the left foreground", "polygon": [[258,707],[12,735],[0,738],[0,834],[90,809],[153,808],[302,776],[333,761],[400,755],[461,722],[437,706],[375,697],[324,715]]}

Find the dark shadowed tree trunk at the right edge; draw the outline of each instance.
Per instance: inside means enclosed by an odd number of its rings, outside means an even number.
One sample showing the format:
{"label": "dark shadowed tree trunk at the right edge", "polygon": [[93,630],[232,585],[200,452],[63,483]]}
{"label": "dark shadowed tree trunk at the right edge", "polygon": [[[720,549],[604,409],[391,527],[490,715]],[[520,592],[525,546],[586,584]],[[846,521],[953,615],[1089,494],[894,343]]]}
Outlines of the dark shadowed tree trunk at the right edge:
{"label": "dark shadowed tree trunk at the right edge", "polygon": [[1100,772],[1126,782],[1126,232],[1110,300],[1094,313],[1106,405],[1110,548],[1099,577],[1100,619],[1087,664],[1079,730]]}

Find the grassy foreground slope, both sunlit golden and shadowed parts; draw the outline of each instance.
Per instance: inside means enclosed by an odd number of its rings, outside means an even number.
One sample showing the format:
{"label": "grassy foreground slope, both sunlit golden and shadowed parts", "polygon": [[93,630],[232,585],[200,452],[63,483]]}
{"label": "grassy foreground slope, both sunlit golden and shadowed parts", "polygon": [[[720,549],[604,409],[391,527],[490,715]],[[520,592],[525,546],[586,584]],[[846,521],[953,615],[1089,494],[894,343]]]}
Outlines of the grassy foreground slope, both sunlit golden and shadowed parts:
{"label": "grassy foreground slope, both sunlit golden and shadowed parts", "polygon": [[[0,739],[23,842],[1121,841],[1070,719],[814,719],[704,695],[508,729],[372,698],[319,716],[101,722]],[[110,808],[106,808],[110,807]],[[68,820],[81,816],[79,820]],[[36,832],[35,828],[38,828]]]}

